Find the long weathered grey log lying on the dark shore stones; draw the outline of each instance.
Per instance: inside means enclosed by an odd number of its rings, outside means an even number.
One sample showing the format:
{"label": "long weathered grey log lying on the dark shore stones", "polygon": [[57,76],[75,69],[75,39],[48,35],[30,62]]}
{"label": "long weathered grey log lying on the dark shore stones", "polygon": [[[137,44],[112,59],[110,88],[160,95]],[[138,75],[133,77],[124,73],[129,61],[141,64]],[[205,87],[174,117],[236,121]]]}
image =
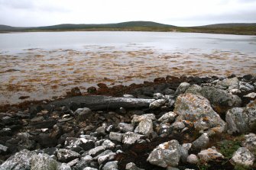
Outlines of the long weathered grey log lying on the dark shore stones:
{"label": "long weathered grey log lying on the dark shore stones", "polygon": [[76,96],[73,98],[65,98],[60,101],[53,101],[47,104],[44,109],[50,111],[52,107],[66,106],[70,107],[70,104],[75,104],[77,107],[89,107],[92,111],[103,109],[117,109],[119,107],[124,108],[141,108],[149,107],[149,104],[154,99],[144,98],[113,98],[108,96]]}

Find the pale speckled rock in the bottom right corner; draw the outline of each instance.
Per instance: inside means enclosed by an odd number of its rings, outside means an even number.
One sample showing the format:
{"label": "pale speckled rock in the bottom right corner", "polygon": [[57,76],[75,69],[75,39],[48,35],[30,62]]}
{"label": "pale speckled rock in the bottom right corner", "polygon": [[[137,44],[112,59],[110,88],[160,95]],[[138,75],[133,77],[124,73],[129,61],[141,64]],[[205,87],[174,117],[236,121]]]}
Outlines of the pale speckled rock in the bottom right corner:
{"label": "pale speckled rock in the bottom right corner", "polygon": [[230,162],[233,165],[251,166],[254,164],[254,155],[245,147],[239,148],[232,156]]}

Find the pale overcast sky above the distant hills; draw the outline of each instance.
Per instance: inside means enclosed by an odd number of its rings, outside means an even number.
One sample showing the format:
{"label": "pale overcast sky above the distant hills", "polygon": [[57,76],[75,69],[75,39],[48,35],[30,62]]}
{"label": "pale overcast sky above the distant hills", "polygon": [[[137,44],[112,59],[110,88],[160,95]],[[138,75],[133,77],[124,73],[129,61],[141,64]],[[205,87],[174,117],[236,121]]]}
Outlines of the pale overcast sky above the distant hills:
{"label": "pale overcast sky above the distant hills", "polygon": [[123,21],[256,23],[256,0],[0,0],[0,24],[16,27]]}

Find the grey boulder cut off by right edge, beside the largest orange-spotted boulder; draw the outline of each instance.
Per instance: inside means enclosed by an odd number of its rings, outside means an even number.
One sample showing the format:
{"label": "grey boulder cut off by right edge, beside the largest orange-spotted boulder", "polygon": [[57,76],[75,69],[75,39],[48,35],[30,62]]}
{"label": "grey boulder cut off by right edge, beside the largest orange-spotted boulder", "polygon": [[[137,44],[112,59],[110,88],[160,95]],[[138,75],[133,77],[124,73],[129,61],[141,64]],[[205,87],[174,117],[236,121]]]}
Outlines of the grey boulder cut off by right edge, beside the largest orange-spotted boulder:
{"label": "grey boulder cut off by right edge, beside the largest orange-spotted boulder", "polygon": [[246,133],[255,130],[256,127],[256,101],[246,107],[235,107],[228,111],[225,120],[228,133]]}

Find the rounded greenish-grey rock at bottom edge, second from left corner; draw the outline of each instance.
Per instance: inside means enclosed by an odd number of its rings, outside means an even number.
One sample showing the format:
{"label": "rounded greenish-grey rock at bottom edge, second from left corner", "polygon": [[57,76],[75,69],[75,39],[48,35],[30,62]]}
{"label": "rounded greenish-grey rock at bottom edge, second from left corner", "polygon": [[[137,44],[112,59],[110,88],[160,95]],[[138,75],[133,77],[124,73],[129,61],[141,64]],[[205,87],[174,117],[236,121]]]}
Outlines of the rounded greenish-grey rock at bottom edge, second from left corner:
{"label": "rounded greenish-grey rock at bottom edge, second from left corner", "polygon": [[52,170],[57,169],[59,162],[50,158],[47,154],[39,153],[32,156],[31,170]]}

